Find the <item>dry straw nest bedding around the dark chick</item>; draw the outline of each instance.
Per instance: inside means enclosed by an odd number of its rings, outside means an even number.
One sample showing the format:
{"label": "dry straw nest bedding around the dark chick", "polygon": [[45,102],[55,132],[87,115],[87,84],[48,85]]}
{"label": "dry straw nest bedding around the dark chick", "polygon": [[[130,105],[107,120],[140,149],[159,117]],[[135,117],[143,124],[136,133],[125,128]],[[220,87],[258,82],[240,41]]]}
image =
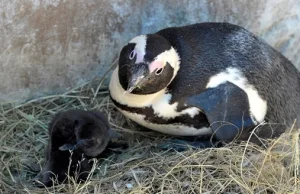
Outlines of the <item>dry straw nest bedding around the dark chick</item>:
{"label": "dry straw nest bedding around the dark chick", "polygon": [[[17,107],[1,105],[0,192],[2,193],[300,193],[299,131],[288,130],[268,147],[248,142],[223,148],[178,152],[158,145],[172,138],[138,127],[109,99],[109,76],[67,93],[43,97]],[[103,158],[87,182],[69,179],[47,189],[32,178],[44,164],[47,125],[70,108],[100,110],[129,148]]]}

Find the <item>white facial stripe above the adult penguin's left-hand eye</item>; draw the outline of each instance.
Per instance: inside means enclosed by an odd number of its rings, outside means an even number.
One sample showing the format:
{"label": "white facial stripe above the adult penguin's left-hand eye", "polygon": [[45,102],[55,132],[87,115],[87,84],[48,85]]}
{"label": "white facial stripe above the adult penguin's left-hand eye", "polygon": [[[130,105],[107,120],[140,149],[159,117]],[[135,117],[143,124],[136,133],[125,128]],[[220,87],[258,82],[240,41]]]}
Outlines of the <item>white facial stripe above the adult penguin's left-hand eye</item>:
{"label": "white facial stripe above the adult penguin's left-hand eye", "polygon": [[133,38],[129,43],[135,43],[134,50],[137,53],[136,62],[135,63],[141,63],[144,61],[144,56],[146,54],[146,43],[147,43],[147,36],[146,35],[140,35],[135,38]]}

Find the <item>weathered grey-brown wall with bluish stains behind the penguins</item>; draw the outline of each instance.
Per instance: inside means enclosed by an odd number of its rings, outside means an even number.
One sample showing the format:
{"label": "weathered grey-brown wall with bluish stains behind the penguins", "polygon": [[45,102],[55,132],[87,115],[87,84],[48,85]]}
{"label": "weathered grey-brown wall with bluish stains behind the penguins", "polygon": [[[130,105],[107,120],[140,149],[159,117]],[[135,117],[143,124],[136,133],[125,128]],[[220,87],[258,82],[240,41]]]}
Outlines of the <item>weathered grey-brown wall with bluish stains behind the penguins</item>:
{"label": "weathered grey-brown wall with bluish stains behind the penguins", "polygon": [[2,0],[0,102],[64,92],[101,76],[134,36],[206,21],[247,28],[300,69],[299,0]]}

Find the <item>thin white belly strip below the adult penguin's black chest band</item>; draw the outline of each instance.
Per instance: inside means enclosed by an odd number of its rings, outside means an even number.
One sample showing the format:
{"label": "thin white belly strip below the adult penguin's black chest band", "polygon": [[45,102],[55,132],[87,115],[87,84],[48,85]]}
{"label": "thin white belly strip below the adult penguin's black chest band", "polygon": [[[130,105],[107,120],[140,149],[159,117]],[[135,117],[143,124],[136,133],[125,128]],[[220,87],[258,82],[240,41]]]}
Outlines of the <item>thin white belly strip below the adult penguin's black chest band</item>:
{"label": "thin white belly strip below the adult penguin's black chest band", "polygon": [[176,125],[176,124],[168,124],[168,125],[161,125],[161,124],[154,124],[146,121],[144,115],[130,113],[124,110],[118,109],[122,114],[124,114],[127,118],[135,121],[136,123],[169,135],[177,135],[177,136],[200,136],[200,135],[209,135],[212,134],[211,128],[203,127],[201,129],[196,129],[194,127],[183,126],[183,125]]}

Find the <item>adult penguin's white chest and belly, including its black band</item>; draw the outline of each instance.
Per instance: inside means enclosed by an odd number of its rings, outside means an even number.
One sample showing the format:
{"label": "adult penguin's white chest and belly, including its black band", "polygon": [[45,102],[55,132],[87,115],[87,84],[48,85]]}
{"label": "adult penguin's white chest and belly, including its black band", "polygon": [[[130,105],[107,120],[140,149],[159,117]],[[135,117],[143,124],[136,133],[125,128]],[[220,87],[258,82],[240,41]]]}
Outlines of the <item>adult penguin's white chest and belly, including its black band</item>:
{"label": "adult penguin's white chest and belly, including its black band", "polygon": [[118,68],[112,74],[109,91],[117,109],[146,128],[179,136],[212,134],[206,116],[198,108],[177,111],[178,103],[170,103],[172,95],[166,90],[149,95],[126,92],[120,85]]}

